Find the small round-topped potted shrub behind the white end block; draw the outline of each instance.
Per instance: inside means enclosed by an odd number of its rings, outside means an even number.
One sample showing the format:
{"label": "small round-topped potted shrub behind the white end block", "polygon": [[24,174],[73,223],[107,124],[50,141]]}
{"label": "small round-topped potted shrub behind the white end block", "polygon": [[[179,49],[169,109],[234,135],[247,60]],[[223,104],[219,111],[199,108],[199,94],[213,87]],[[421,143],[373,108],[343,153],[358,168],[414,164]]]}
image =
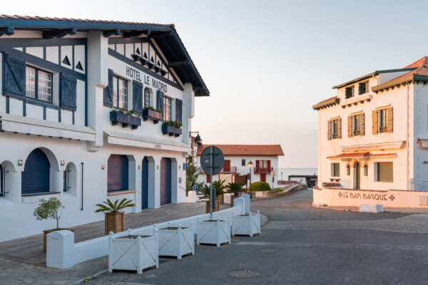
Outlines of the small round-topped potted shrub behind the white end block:
{"label": "small round-topped potted shrub behind the white end block", "polygon": [[[39,199],[39,206],[34,209],[33,215],[37,220],[41,221],[42,219],[56,219],[56,228],[55,229],[45,229],[43,231],[43,252],[46,252],[46,236],[50,232],[59,231],[62,228],[59,227],[59,219],[61,219],[62,209],[65,207],[60,200],[56,197],[51,197],[49,199]],[[68,229],[71,232],[74,232],[74,229]]]}

